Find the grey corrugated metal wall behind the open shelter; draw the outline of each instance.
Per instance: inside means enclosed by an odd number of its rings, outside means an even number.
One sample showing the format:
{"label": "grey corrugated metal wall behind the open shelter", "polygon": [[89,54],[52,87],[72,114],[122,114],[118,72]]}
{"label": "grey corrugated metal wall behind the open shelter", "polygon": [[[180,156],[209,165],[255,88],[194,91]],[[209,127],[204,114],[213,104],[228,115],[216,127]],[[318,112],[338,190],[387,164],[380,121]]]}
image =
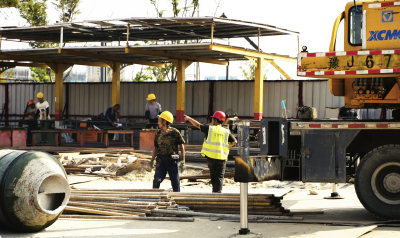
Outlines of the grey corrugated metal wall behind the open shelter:
{"label": "grey corrugated metal wall behind the open shelter", "polygon": [[[281,100],[286,100],[288,117],[295,117],[299,104],[299,84],[302,83],[303,103],[316,107],[318,117],[325,117],[326,107],[343,106],[343,97],[332,96],[326,80],[312,81],[265,81],[264,82],[264,117],[282,116]],[[36,98],[41,91],[51,105],[54,114],[54,85],[53,84],[8,84],[10,92],[10,115],[21,115],[26,102]],[[111,106],[110,83],[69,83],[64,91],[69,92],[70,117],[84,119],[87,116],[98,115]],[[206,116],[209,110],[223,110],[237,113],[242,117],[253,117],[254,83],[251,81],[200,81],[186,82],[186,109],[188,115]],[[175,114],[176,84],[162,83],[121,83],[121,116],[143,118],[146,96],[155,93],[163,110]],[[210,94],[213,102],[210,108]],[[5,85],[0,85],[0,103],[5,102]],[[64,96],[64,102],[66,101]],[[380,110],[363,110],[364,119],[379,118]],[[390,115],[390,112],[388,112]],[[11,117],[10,119],[19,119]],[[203,118],[204,119],[204,118]]]}

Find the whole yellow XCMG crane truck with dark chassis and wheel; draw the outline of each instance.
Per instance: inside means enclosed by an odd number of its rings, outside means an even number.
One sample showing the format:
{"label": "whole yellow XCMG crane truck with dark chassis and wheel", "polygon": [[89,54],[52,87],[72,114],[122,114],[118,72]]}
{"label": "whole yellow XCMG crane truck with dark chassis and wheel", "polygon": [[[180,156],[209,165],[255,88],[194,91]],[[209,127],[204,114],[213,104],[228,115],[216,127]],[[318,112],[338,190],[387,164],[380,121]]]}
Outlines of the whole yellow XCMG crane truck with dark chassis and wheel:
{"label": "whole yellow XCMG crane truck with dark chassis and wheel", "polygon": [[[335,51],[342,21],[344,51]],[[329,52],[303,48],[298,75],[329,78],[346,108],[400,108],[400,0],[349,2],[334,23]],[[400,219],[400,121],[265,118],[258,140],[260,156],[236,159],[236,181],[354,178],[367,210]]]}

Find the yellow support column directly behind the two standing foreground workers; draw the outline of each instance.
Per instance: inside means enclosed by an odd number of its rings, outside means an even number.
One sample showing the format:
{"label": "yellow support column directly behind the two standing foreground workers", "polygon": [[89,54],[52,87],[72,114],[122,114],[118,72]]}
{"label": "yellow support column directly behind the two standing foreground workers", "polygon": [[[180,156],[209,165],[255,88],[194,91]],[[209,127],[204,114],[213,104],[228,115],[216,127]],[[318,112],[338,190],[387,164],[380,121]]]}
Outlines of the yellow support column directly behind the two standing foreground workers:
{"label": "yellow support column directly behind the two standing foreground workers", "polygon": [[192,62],[185,60],[177,60],[174,62],[177,70],[176,80],[176,122],[184,122],[185,114],[185,69]]}

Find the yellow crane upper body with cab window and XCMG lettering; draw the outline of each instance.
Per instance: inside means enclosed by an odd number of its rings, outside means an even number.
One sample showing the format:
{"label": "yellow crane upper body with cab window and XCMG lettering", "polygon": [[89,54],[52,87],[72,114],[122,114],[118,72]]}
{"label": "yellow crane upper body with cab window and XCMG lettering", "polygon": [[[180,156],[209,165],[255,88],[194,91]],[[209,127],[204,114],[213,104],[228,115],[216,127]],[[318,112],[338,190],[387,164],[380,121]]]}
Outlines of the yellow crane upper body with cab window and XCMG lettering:
{"label": "yellow crane upper body with cab window and XCMG lettering", "polygon": [[[335,51],[344,21],[344,51]],[[329,52],[298,55],[298,75],[329,78],[347,108],[400,108],[400,1],[346,4],[334,23]]]}

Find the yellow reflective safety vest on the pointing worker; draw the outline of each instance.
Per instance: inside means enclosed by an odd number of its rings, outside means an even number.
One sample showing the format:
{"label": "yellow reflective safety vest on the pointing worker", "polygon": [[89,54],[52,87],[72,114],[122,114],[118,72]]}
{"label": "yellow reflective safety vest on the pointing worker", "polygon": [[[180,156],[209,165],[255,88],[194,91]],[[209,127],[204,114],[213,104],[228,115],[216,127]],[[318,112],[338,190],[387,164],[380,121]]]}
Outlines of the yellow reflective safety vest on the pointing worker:
{"label": "yellow reflective safety vest on the pointing worker", "polygon": [[201,155],[211,159],[228,160],[229,154],[229,130],[221,125],[210,126],[207,139],[204,140]]}

